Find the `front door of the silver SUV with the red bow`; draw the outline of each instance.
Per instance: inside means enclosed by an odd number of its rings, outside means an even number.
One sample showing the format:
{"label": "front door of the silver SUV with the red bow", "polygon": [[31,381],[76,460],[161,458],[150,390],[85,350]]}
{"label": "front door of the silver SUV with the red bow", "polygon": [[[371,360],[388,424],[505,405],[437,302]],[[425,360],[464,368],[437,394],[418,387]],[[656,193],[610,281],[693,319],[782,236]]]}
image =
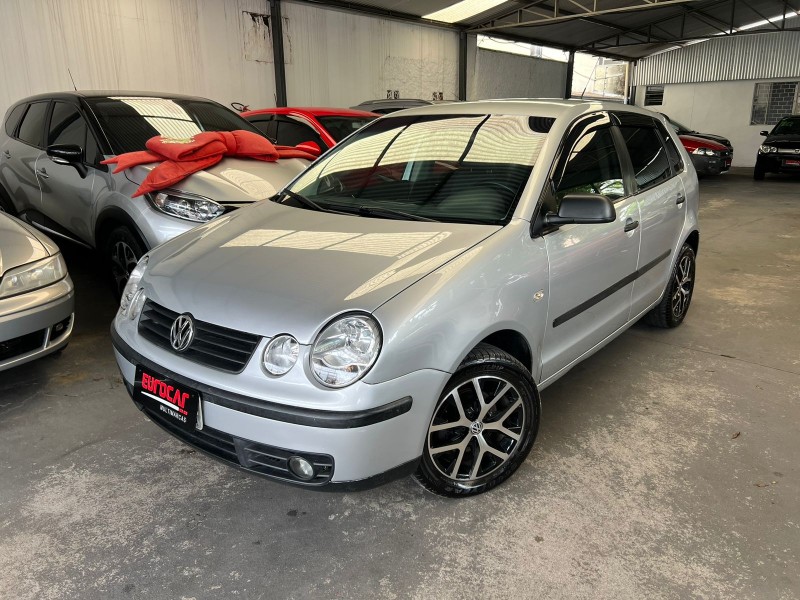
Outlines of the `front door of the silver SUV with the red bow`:
{"label": "front door of the silver SUV with the red bow", "polygon": [[53,102],[47,146],[54,144],[80,146],[85,171],[82,174],[73,165],[58,164],[43,153],[37,165],[42,188],[42,212],[54,222],[53,229],[64,229],[64,233],[89,243],[95,216],[95,171],[102,156],[77,104]]}

